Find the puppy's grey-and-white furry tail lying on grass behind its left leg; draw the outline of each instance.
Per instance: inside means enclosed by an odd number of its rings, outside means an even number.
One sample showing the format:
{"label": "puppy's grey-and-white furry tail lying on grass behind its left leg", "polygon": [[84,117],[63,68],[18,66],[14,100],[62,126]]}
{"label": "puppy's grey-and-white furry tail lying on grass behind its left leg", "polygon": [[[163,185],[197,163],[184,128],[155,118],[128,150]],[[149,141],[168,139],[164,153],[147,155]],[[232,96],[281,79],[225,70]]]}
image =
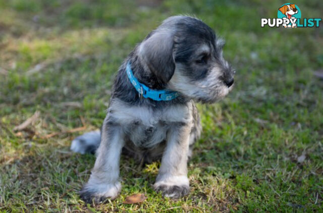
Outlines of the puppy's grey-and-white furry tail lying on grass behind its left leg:
{"label": "puppy's grey-and-white furry tail lying on grass behind its left leg", "polygon": [[91,131],[78,136],[72,141],[71,150],[73,152],[94,154],[101,142],[100,130]]}

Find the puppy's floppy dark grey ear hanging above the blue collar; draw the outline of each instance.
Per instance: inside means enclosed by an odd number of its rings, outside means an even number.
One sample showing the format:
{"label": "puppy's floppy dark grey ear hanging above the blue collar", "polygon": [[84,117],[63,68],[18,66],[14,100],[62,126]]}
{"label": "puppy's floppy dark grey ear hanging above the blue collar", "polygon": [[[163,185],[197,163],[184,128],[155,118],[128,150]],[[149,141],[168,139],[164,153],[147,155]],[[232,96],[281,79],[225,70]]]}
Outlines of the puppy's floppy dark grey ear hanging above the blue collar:
{"label": "puppy's floppy dark grey ear hanging above the blue collar", "polygon": [[168,30],[155,31],[139,47],[139,56],[150,71],[163,83],[171,80],[175,71],[174,34]]}

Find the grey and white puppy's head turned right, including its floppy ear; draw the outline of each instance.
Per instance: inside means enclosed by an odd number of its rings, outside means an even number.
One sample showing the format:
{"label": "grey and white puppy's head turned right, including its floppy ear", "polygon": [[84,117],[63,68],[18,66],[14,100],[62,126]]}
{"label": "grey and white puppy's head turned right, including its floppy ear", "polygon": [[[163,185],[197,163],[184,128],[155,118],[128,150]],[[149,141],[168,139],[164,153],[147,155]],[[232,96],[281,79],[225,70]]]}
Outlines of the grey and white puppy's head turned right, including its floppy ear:
{"label": "grey and white puppy's head turned right, including its floppy ear", "polygon": [[224,43],[202,21],[174,16],[139,45],[139,57],[168,89],[214,102],[227,95],[234,82],[234,71],[222,56]]}

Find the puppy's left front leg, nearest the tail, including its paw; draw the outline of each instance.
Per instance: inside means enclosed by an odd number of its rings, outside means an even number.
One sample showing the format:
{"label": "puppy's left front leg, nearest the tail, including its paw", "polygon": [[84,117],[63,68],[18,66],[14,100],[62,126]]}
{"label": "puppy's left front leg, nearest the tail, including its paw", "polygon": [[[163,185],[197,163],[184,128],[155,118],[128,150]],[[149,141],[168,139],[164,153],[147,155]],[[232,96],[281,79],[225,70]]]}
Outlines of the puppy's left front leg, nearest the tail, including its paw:
{"label": "puppy's left front leg, nearest the tail, including its paw", "polygon": [[85,202],[101,202],[105,198],[115,199],[121,190],[119,161],[124,146],[122,128],[111,124],[107,116],[103,122],[101,143],[89,181],[80,192]]}

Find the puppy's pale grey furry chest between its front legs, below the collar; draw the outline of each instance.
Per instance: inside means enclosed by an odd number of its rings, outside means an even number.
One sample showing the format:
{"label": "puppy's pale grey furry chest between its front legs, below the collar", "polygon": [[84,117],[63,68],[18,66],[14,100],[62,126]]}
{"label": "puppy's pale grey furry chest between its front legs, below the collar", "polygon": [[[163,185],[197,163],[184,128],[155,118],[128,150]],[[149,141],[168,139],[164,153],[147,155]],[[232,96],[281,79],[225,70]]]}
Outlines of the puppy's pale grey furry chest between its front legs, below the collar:
{"label": "puppy's pale grey furry chest between its front legs, below the collar", "polygon": [[191,117],[187,105],[152,109],[113,103],[112,111],[126,141],[141,148],[152,148],[165,141],[170,128],[187,124]]}

